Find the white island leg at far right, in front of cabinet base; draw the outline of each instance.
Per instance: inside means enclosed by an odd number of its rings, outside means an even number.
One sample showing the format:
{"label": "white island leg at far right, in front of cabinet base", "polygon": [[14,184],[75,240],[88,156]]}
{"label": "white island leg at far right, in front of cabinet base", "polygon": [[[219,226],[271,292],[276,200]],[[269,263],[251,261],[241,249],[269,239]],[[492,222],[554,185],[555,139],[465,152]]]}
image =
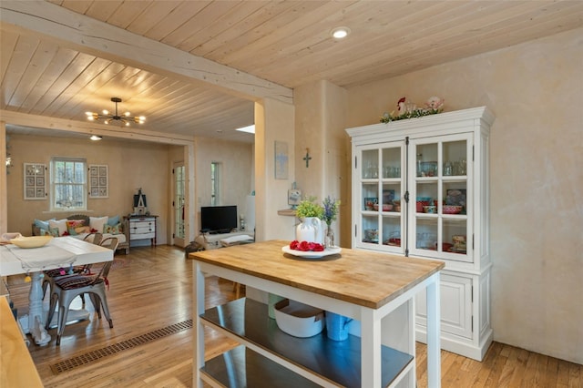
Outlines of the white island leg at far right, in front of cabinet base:
{"label": "white island leg at far right, in front of cabinet base", "polygon": [[427,385],[441,386],[441,349],[439,344],[439,272],[427,285]]}

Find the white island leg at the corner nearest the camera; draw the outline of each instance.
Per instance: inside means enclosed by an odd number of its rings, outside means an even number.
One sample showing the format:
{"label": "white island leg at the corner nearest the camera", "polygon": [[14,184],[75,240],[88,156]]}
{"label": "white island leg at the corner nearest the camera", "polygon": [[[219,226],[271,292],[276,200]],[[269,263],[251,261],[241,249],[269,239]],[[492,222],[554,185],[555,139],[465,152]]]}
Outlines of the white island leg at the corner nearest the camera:
{"label": "white island leg at the corner nearest the camera", "polygon": [[361,328],[361,386],[380,387],[381,320],[376,319],[373,310],[363,308]]}

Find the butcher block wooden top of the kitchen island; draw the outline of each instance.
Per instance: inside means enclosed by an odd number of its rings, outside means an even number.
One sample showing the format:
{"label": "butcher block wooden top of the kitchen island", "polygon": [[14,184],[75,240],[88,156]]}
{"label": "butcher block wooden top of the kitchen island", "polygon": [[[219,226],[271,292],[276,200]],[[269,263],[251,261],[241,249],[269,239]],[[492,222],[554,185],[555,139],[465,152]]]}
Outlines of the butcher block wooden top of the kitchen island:
{"label": "butcher block wooden top of the kitchen island", "polygon": [[343,248],[338,255],[302,259],[281,251],[287,240],[269,240],[192,252],[199,260],[233,271],[378,309],[445,264],[369,250]]}

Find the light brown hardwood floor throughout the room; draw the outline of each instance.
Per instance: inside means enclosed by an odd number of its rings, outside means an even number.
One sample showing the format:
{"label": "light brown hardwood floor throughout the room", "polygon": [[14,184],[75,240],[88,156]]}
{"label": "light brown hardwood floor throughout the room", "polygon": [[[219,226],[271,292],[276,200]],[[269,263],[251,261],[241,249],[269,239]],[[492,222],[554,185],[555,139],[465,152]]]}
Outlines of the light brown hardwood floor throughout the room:
{"label": "light brown hardwood floor throughout the room", "polygon": [[[154,332],[191,319],[192,276],[183,250],[169,246],[132,248],[116,255],[110,272],[107,301],[114,322],[91,314],[90,321],[68,325],[61,345],[55,339],[46,346],[31,344],[29,350],[46,387],[189,387],[192,385],[191,330],[183,330],[152,342],[115,352],[97,361],[81,362],[71,370],[53,373],[51,365],[79,355],[95,355],[103,348],[141,334]],[[11,298],[19,312],[26,311],[29,283],[23,276],[8,278]],[[232,283],[207,279],[207,306],[234,299]],[[80,301],[74,301],[75,307]],[[87,310],[91,310],[90,302]],[[50,330],[49,334],[54,334]],[[206,329],[206,357],[235,344]],[[426,353],[417,344],[418,387],[426,383]],[[267,382],[266,386],[269,386]],[[557,360],[495,342],[483,362],[442,351],[443,387],[573,387],[583,388],[583,365]],[[19,387],[17,387],[19,388]]]}

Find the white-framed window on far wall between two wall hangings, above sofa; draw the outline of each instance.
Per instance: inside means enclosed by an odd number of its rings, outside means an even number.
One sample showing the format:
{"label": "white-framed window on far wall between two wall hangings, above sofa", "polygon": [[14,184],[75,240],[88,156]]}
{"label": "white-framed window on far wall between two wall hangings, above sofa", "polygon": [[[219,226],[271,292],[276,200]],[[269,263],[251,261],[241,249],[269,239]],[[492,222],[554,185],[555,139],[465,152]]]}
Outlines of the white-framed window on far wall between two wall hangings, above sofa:
{"label": "white-framed window on far wall between two wall hangings, above sofa", "polygon": [[87,161],[51,159],[51,209],[87,210]]}

